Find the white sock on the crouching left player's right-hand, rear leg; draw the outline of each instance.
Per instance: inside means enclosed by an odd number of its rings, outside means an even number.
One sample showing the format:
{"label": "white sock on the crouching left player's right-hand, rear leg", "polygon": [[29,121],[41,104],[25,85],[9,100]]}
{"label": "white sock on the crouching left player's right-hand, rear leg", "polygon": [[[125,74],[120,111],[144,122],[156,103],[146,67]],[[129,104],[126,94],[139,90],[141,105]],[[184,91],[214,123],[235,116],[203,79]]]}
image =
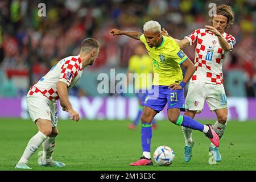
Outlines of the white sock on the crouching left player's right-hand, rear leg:
{"label": "white sock on the crouching left player's right-hand, rear leg", "polygon": [[47,137],[46,140],[42,143],[43,146],[43,163],[52,162],[52,152],[55,147],[55,138],[56,137]]}

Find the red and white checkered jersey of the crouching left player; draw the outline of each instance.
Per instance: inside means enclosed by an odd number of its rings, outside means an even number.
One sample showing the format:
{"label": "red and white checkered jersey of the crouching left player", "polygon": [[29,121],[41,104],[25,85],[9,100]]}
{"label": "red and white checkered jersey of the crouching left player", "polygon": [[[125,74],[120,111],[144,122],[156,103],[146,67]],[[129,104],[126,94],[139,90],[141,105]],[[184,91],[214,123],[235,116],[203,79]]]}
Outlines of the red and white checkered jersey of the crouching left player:
{"label": "red and white checkered jersey of the crouching left player", "polygon": [[68,90],[79,80],[82,75],[82,63],[79,56],[69,56],[60,60],[51,70],[43,76],[34,86],[31,86],[28,95],[43,94],[51,101],[59,99],[57,82],[63,81],[68,85]]}

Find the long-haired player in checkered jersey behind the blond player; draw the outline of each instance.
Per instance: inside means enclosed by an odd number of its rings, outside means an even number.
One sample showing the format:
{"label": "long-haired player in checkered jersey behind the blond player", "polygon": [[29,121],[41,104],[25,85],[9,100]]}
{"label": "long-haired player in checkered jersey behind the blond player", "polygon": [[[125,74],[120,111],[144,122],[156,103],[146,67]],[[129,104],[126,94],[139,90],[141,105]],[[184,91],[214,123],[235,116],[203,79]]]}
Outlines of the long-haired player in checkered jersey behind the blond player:
{"label": "long-haired player in checkered jersey behind the blond player", "polygon": [[[223,86],[222,64],[226,55],[232,51],[236,44],[236,39],[227,34],[226,28],[232,26],[234,21],[234,13],[228,5],[218,5],[216,15],[210,22],[212,26],[205,26],[185,36],[183,40],[175,39],[179,43],[180,48],[191,46],[196,43],[195,50],[195,67],[196,72],[189,81],[187,98],[185,107],[187,109],[185,115],[194,118],[196,113],[200,113],[204,108],[204,102],[211,111],[217,116],[217,121],[213,125],[214,131],[221,138],[224,134],[227,118],[228,103]],[[168,35],[163,29],[163,35]],[[192,157],[192,129],[182,127],[185,137],[184,160],[189,162]],[[214,155],[217,162],[221,161],[221,155],[218,147],[210,143],[209,151]]]}

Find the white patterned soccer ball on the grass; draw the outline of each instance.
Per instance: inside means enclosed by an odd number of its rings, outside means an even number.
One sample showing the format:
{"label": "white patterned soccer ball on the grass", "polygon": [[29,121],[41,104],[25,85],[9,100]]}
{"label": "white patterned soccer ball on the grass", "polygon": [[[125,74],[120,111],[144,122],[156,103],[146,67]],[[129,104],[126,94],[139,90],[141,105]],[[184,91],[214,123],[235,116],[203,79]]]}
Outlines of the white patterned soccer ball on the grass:
{"label": "white patterned soccer ball on the grass", "polygon": [[160,146],[154,152],[155,162],[159,166],[170,166],[174,162],[174,151],[168,146]]}

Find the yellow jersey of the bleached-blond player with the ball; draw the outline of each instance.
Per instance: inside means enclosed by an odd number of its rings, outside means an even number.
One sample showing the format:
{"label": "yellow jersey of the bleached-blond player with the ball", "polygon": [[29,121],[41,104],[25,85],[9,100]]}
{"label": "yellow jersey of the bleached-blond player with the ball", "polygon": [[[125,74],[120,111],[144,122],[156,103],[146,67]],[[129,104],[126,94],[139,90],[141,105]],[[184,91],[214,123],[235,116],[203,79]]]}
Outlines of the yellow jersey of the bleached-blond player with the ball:
{"label": "yellow jersey of the bleached-blond player with the ball", "polygon": [[158,47],[149,47],[144,34],[139,38],[146,46],[153,63],[153,85],[179,84],[183,80],[180,64],[188,56],[181,51],[174,39],[163,36],[163,42]]}

